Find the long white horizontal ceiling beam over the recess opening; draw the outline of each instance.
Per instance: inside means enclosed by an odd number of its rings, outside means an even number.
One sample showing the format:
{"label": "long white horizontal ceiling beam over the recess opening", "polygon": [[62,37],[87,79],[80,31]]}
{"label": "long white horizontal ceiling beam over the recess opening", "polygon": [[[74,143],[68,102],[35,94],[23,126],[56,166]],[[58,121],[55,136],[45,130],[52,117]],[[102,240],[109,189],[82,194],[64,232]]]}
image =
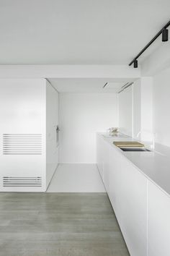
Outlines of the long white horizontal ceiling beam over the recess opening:
{"label": "long white horizontal ceiling beam over the recess opening", "polygon": [[0,65],[0,78],[138,78],[127,65]]}

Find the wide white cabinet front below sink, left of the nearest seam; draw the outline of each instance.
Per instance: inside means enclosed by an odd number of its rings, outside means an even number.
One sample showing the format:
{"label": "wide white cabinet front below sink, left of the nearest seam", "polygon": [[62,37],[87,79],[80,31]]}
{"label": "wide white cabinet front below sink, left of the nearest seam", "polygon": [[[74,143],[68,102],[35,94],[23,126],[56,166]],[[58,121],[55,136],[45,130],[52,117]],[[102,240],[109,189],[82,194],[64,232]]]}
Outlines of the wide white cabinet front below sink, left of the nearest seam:
{"label": "wide white cabinet front below sink, left of the nearest seam", "polygon": [[147,255],[147,179],[110,147],[109,198],[130,255]]}

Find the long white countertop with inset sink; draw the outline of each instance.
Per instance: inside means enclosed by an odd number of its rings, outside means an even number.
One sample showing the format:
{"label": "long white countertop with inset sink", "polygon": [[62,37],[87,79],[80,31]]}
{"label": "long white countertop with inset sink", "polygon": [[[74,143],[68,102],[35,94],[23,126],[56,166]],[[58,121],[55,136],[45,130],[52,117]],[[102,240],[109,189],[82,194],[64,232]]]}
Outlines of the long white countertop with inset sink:
{"label": "long white countertop with inset sink", "polygon": [[110,137],[107,134],[99,133],[109,145],[125,155],[148,179],[170,196],[170,148],[156,143],[155,150],[151,152],[122,151],[113,144],[114,141],[133,141],[133,138],[126,135]]}

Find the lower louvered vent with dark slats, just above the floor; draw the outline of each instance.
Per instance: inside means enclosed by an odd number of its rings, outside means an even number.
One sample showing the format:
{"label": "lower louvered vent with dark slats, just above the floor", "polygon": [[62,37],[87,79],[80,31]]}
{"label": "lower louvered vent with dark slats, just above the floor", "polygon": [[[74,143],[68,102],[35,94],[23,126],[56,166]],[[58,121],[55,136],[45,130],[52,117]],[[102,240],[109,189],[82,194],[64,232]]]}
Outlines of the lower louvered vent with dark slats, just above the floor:
{"label": "lower louvered vent with dark slats, just above the floor", "polygon": [[3,177],[3,187],[41,187],[41,177]]}

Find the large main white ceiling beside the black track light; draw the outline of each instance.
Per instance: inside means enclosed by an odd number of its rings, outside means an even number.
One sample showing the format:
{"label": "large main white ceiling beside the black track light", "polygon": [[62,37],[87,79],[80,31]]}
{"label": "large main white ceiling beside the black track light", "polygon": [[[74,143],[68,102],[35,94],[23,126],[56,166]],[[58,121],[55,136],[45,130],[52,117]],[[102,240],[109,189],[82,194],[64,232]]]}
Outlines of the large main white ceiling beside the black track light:
{"label": "large main white ceiling beside the black track light", "polygon": [[169,10],[169,0],[0,0],[0,64],[128,64]]}

